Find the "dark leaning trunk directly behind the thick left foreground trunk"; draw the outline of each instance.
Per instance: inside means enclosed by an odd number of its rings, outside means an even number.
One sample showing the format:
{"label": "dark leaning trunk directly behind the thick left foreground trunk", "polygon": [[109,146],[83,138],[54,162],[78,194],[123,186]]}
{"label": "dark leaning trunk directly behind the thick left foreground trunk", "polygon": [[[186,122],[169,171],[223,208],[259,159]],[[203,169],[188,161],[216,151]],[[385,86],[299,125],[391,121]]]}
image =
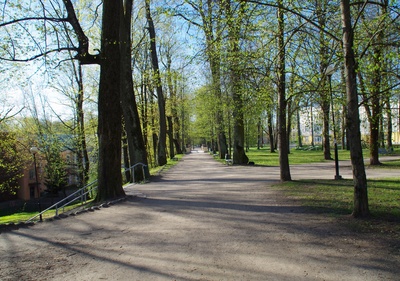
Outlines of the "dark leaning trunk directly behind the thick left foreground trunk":
{"label": "dark leaning trunk directly behind the thick left foreground trunk", "polygon": [[[132,179],[136,182],[149,178],[147,151],[143,140],[140,117],[133,91],[132,52],[131,52],[131,18],[133,0],[124,0],[124,14],[121,21],[121,106],[125,120],[128,140],[130,165],[137,165],[133,170]],[[143,173],[145,171],[145,173]]]}

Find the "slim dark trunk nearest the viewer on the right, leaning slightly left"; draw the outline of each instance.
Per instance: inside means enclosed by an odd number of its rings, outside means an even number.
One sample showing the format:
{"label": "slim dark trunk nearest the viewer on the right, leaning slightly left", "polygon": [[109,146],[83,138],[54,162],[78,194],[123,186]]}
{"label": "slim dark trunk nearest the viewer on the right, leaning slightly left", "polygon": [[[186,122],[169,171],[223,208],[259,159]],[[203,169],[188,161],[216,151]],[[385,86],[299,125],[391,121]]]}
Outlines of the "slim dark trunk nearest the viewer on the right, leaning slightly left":
{"label": "slim dark trunk nearest the viewer on the right, leaning slightly left", "polygon": [[343,27],[343,57],[347,95],[347,130],[350,141],[350,157],[353,166],[354,217],[369,215],[367,176],[361,147],[360,116],[356,78],[356,61],[353,50],[354,33],[351,24],[350,1],[341,0],[340,9]]}

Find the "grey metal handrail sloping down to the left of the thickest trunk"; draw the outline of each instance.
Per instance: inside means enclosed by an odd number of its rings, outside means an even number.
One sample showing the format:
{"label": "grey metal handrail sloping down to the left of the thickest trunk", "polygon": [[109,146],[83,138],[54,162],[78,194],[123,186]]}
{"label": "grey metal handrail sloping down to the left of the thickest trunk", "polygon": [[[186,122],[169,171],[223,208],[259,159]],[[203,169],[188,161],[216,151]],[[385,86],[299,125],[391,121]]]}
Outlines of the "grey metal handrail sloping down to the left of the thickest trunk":
{"label": "grey metal handrail sloping down to the left of the thickest trunk", "polygon": [[31,217],[26,222],[32,222],[37,217],[41,217],[44,213],[46,213],[46,212],[48,212],[50,210],[54,210],[54,209],[56,211],[55,216],[58,216],[61,209],[62,209],[62,212],[64,212],[66,206],[68,206],[71,203],[73,203],[75,201],[78,201],[78,200],[80,200],[82,205],[85,204],[88,201],[88,196],[87,195],[89,193],[93,193],[95,190],[97,190],[96,183],[97,183],[97,180],[87,184],[86,186],[82,187],[81,189],[79,189],[79,190],[75,191],[74,193],[68,195],[64,199],[62,199],[62,200],[58,201],[57,203],[51,205],[50,207],[48,207],[44,211],[40,212],[39,214]]}

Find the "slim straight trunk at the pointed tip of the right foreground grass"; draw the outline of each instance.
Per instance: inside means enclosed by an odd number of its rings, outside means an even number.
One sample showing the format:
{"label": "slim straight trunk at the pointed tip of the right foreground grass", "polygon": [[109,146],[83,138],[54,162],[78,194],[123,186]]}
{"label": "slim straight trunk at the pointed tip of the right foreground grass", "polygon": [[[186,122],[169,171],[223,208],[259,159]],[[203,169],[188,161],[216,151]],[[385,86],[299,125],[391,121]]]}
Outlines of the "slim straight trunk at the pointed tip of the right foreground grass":
{"label": "slim straight trunk at the pointed tip of the right foreground grass", "polygon": [[289,145],[286,129],[285,21],[283,1],[278,0],[278,137],[281,181],[290,181]]}

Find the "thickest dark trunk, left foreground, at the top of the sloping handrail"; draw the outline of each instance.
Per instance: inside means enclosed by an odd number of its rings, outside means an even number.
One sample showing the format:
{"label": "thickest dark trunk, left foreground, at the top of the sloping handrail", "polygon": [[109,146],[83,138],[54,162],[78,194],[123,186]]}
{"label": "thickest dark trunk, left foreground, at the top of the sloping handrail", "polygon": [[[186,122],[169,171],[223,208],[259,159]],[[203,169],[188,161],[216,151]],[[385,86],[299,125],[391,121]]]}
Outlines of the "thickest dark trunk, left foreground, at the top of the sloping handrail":
{"label": "thickest dark trunk, left foreground, at the top of the sloping handrail", "polygon": [[121,175],[121,56],[122,0],[103,1],[102,63],[98,99],[99,166],[96,201],[125,196]]}

